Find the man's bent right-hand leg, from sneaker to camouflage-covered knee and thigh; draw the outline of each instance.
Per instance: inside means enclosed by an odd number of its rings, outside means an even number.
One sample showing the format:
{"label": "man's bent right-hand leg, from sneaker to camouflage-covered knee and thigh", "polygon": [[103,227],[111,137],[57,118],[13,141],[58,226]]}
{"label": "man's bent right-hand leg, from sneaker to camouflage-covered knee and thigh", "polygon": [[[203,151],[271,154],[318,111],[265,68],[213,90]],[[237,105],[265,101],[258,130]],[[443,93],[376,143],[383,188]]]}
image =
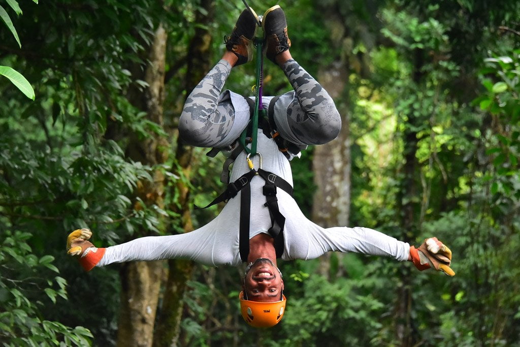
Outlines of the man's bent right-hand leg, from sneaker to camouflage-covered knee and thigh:
{"label": "man's bent right-hand leg, from sneaker to camouflage-covered knee and thigh", "polygon": [[318,145],[339,134],[341,116],[327,91],[291,56],[287,21],[278,6],[263,19],[266,57],[276,63],[294,88],[295,98],[284,95],[275,105],[275,122],[282,137],[295,144]]}

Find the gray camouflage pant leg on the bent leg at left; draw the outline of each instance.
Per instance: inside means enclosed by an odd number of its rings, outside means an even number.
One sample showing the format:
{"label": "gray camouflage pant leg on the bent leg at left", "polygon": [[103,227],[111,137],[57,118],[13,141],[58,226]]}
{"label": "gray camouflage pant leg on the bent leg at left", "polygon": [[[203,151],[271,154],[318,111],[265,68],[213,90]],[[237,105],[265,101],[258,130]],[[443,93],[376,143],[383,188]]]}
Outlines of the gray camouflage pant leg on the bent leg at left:
{"label": "gray camouflage pant leg on the bent leg at left", "polygon": [[236,138],[228,136],[235,122],[229,93],[220,95],[231,65],[220,60],[199,82],[184,104],[179,120],[181,138],[192,146],[225,147]]}

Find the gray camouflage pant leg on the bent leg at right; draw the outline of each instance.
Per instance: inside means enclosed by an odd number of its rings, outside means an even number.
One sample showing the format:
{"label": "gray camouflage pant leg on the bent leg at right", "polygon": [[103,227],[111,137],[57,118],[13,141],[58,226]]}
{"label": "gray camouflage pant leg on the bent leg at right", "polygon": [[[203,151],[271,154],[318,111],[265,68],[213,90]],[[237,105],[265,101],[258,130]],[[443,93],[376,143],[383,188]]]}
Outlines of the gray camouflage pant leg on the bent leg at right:
{"label": "gray camouflage pant leg on the bent leg at right", "polygon": [[329,93],[295,60],[285,62],[282,69],[294,88],[274,105],[282,137],[297,145],[319,145],[334,139],[341,130],[341,116]]}

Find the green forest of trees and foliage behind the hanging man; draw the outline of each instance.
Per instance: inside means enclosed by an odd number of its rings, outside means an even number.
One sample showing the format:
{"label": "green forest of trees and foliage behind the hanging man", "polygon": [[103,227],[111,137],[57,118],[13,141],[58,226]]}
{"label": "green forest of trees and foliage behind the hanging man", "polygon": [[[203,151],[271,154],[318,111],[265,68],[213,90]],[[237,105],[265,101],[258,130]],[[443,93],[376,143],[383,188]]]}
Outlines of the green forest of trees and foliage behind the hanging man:
{"label": "green forest of trees and foliage behind the hanging man", "polygon": [[[415,245],[437,236],[456,276],[358,254],[284,262],[287,313],[255,330],[239,313],[243,268],[84,273],[65,252],[76,228],[109,246],[218,212],[192,207],[223,189],[223,159],[180,142],[177,122],[243,4],[0,0],[0,66],[35,92],[0,76],[0,343],[520,345],[520,3],[280,5],[293,57],[343,117],[337,139],[291,163],[302,210]],[[249,63],[225,87],[253,84]],[[267,61],[265,95],[289,89]]]}

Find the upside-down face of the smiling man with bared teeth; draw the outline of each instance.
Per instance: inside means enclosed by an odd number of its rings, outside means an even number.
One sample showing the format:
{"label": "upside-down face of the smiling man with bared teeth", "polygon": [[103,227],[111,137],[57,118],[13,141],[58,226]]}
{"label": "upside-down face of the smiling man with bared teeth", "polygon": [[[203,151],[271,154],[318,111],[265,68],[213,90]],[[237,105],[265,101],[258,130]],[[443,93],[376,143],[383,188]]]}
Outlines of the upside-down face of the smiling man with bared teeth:
{"label": "upside-down face of the smiling man with bared teeth", "polygon": [[266,258],[258,258],[244,277],[247,300],[261,302],[280,301],[283,280],[278,268]]}

